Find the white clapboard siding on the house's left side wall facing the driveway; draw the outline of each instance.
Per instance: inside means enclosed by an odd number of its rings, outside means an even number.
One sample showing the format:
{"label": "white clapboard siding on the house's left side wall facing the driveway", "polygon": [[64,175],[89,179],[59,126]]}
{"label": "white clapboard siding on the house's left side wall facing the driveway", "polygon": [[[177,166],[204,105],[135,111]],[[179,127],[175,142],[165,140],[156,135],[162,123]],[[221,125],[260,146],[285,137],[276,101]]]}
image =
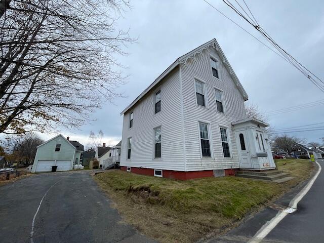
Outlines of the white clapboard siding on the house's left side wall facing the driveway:
{"label": "white clapboard siding on the house's left side wall facing the driveway", "polygon": [[[161,90],[161,111],[154,114],[154,93]],[[184,170],[183,126],[179,67],[124,114],[120,166]],[[133,111],[133,128],[129,114]],[[161,158],[153,158],[153,129],[161,126]],[[132,137],[131,159],[127,159],[128,138]]]}

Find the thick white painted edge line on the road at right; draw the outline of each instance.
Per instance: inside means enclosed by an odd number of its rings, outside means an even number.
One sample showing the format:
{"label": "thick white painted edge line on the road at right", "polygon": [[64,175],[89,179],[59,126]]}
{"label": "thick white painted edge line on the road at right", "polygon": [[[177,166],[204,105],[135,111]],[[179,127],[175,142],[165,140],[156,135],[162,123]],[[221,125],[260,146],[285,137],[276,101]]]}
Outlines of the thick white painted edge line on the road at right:
{"label": "thick white painted edge line on the road at right", "polygon": [[[317,161],[316,161],[316,164],[318,165],[318,171],[313,176],[313,178],[307,183],[307,185],[304,186],[304,188],[290,201],[290,203],[289,203],[290,208],[297,209],[297,204],[299,203],[299,201],[306,195],[306,193],[309,191],[309,189],[314,184],[314,181],[316,180],[316,178],[318,177],[318,175],[319,175],[319,173],[320,173],[320,171],[322,169]],[[272,218],[270,221],[265,223],[261,227],[261,229],[259,229],[259,231],[253,236],[252,239],[250,239],[248,241],[248,243],[259,243],[288,214],[289,213],[287,213],[285,211],[278,212],[277,215],[274,218]]]}

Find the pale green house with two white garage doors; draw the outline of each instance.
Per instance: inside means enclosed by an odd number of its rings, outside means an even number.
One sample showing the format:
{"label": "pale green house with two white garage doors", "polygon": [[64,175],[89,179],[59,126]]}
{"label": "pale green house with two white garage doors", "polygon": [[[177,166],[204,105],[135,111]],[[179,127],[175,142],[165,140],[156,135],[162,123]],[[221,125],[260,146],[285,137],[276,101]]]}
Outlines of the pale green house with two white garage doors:
{"label": "pale green house with two white garage doors", "polygon": [[51,171],[52,166],[57,166],[57,171],[69,171],[79,164],[84,146],[68,139],[59,134],[37,146],[32,172]]}

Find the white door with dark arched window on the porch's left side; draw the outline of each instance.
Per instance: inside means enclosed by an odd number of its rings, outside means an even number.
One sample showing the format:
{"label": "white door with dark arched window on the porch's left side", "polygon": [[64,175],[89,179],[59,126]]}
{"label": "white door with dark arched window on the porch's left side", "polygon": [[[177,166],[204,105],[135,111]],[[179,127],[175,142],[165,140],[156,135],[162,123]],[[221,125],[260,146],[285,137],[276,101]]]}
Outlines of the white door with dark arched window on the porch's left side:
{"label": "white door with dark arched window on the porch's left side", "polygon": [[246,131],[236,133],[237,148],[239,153],[239,167],[252,168],[249,141]]}

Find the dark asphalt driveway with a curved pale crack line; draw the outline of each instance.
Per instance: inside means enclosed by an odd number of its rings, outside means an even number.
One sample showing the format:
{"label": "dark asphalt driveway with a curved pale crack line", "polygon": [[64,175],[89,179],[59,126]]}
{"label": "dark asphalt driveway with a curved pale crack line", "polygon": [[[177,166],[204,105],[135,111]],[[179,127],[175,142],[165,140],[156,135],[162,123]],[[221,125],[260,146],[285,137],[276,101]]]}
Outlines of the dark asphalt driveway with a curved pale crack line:
{"label": "dark asphalt driveway with a curved pale crack line", "polygon": [[[33,217],[47,191],[30,237]],[[83,171],[38,174],[1,186],[0,242],[153,240],[122,223],[118,212],[110,207],[110,200],[99,190],[89,172]]]}

